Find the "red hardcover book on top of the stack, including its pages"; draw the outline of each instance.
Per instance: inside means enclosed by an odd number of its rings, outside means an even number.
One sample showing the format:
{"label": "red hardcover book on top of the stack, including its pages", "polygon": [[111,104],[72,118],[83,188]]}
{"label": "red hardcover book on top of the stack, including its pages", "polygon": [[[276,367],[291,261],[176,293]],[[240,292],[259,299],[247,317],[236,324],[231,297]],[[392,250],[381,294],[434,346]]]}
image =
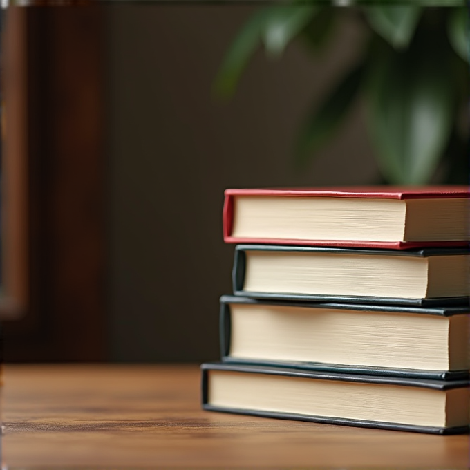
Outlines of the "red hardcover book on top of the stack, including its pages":
{"label": "red hardcover book on top of the stack, including its pages", "polygon": [[227,189],[227,243],[406,248],[466,246],[467,186]]}

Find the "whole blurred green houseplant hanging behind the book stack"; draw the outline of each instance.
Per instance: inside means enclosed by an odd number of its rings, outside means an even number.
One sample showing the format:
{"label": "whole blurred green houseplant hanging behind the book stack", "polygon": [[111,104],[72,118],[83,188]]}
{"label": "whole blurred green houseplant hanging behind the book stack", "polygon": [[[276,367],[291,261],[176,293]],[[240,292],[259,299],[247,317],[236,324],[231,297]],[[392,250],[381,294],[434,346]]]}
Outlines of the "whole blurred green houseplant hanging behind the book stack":
{"label": "whole blurred green houseplant hanging behind the book stack", "polygon": [[325,47],[339,15],[357,15],[366,28],[359,59],[320,106],[300,124],[297,163],[306,164],[328,141],[361,95],[384,182],[421,185],[438,167],[446,182],[466,183],[469,102],[468,12],[464,7],[317,3],[269,6],[245,23],[227,51],[214,84],[229,97],[261,45],[280,57],[294,40],[315,53]]}

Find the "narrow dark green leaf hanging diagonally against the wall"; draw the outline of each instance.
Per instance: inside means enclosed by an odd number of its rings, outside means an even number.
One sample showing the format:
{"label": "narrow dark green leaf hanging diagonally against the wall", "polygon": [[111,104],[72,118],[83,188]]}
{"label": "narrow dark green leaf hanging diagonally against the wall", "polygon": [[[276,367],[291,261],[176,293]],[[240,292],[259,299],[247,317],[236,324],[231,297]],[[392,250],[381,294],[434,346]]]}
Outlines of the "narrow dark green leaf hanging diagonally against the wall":
{"label": "narrow dark green leaf hanging diagonally against the wall", "polygon": [[307,116],[297,141],[297,164],[306,164],[314,152],[337,130],[359,91],[363,73],[364,64],[353,68],[319,108]]}

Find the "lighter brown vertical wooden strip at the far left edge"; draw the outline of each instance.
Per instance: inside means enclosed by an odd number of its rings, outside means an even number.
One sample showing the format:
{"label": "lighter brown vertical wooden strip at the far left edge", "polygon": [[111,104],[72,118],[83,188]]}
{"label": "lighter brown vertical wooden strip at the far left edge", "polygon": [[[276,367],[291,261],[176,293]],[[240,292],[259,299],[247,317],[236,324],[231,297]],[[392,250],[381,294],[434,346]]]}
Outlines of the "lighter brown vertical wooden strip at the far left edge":
{"label": "lighter brown vertical wooden strip at the far left edge", "polygon": [[[2,284],[0,318],[26,314],[28,279],[28,134],[26,10],[10,8],[2,37]],[[6,114],[8,109],[8,119]]]}

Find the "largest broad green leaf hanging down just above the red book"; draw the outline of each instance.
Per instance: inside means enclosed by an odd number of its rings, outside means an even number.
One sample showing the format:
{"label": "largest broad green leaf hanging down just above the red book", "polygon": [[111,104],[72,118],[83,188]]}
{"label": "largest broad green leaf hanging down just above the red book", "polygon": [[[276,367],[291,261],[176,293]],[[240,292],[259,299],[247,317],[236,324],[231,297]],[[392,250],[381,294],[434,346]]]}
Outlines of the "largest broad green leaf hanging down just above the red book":
{"label": "largest broad green leaf hanging down just above the red book", "polygon": [[429,182],[449,141],[455,96],[447,51],[432,46],[389,49],[373,60],[368,124],[382,174],[394,184]]}

